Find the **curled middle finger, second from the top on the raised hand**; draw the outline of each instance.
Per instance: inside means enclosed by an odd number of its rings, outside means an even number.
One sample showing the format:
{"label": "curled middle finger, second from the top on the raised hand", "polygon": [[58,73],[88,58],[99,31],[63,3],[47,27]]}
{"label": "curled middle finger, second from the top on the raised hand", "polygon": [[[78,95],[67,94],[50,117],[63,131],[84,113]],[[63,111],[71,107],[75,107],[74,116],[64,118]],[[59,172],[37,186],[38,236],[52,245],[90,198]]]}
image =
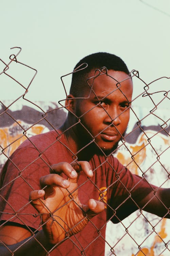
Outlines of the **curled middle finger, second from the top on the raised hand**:
{"label": "curled middle finger, second from the top on the raised hand", "polygon": [[70,179],[77,178],[77,172],[67,162],[55,163],[50,167],[50,173],[57,173],[57,174],[64,173]]}

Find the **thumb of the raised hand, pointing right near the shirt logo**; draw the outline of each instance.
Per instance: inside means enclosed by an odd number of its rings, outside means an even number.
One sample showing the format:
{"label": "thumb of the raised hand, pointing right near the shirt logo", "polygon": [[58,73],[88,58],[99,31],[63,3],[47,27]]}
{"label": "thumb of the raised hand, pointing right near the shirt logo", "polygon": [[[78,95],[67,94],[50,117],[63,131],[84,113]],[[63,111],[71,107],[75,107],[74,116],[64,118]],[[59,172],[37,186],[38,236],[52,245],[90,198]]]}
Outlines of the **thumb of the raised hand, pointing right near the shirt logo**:
{"label": "thumb of the raised hand, pointing right near the shirt logo", "polygon": [[88,201],[88,205],[83,207],[83,211],[86,212],[87,217],[89,219],[101,213],[103,210],[104,210],[104,203],[94,199],[90,199]]}

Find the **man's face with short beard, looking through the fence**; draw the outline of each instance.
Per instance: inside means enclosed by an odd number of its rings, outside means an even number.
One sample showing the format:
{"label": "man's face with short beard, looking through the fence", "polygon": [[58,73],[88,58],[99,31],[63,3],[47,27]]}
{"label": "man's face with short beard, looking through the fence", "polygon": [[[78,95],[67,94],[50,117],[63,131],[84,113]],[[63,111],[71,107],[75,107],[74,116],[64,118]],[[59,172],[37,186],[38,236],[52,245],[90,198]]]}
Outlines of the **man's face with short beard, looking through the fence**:
{"label": "man's face with short beard, looking through the fence", "polygon": [[[109,70],[108,74],[118,82],[129,78],[122,71]],[[93,75],[94,71],[91,71],[88,77]],[[106,74],[99,75],[94,80],[92,87],[94,92],[91,91],[88,99],[78,100],[75,108],[75,114],[80,117],[81,123],[95,138],[98,146],[107,153],[111,153],[115,145],[117,146],[128,126],[130,117],[128,103],[132,100],[133,91],[131,79],[117,84],[112,77]],[[77,126],[77,133],[83,141],[82,144],[92,140],[89,133],[80,125]]]}

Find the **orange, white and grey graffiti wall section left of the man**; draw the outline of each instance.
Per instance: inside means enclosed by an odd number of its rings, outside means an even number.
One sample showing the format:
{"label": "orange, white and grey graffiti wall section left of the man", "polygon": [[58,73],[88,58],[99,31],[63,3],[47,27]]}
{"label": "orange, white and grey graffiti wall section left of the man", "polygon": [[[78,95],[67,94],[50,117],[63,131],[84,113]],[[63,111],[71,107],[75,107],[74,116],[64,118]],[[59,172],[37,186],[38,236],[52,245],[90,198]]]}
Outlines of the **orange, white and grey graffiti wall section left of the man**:
{"label": "orange, white and grey graffiti wall section left of the man", "polygon": [[[6,105],[8,102],[4,102]],[[47,121],[54,127],[63,124],[66,113],[62,109],[58,109],[56,103],[53,102],[36,102],[45,111],[53,111],[48,113]],[[11,118],[11,116],[13,118]],[[47,132],[52,128],[51,125],[42,119],[42,112],[35,109],[35,106],[22,105],[22,102],[17,102],[13,109],[8,109],[4,112],[4,107],[0,109],[0,170],[4,165],[7,157],[16,150],[16,148],[27,139],[36,134]],[[15,122],[17,120],[17,122]],[[39,120],[41,120],[39,122]],[[24,132],[26,131],[26,133]],[[24,132],[24,133],[23,133]],[[27,137],[26,137],[27,136]],[[6,157],[6,156],[7,157]]]}

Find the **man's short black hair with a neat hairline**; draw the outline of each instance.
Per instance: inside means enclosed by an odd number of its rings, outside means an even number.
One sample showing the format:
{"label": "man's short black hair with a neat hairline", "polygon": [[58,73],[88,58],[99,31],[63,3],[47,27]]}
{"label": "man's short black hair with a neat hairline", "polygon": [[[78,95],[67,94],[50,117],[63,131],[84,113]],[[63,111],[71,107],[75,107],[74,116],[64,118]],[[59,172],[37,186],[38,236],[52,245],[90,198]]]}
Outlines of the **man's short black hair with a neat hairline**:
{"label": "man's short black hair with a neat hairline", "polygon": [[83,63],[87,63],[88,66],[85,69],[72,74],[70,94],[72,94],[74,97],[81,97],[81,95],[83,94],[85,90],[84,86],[86,83],[86,79],[88,78],[87,74],[91,70],[106,67],[107,70],[112,69],[115,71],[123,71],[128,75],[130,73],[124,61],[120,57],[111,53],[99,52],[90,54],[81,59],[74,67],[74,70]]}

